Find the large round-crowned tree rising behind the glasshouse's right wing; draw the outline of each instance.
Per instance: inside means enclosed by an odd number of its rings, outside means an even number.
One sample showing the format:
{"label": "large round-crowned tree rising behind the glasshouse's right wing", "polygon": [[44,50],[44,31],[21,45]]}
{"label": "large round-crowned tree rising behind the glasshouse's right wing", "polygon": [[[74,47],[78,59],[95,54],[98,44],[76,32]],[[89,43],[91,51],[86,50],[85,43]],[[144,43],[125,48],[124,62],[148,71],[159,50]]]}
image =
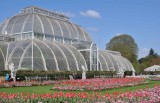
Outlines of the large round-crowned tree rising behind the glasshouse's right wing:
{"label": "large round-crowned tree rising behind the glasshouse's right wing", "polygon": [[123,34],[113,37],[107,43],[106,49],[118,51],[131,62],[137,62],[138,46],[130,35]]}

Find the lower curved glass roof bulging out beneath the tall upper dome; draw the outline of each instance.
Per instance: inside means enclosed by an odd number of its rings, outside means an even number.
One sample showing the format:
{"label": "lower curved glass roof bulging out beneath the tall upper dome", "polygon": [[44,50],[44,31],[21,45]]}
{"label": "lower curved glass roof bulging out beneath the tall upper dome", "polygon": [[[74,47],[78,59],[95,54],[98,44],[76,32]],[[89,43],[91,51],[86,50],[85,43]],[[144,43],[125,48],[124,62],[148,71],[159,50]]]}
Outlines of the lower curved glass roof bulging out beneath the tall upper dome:
{"label": "lower curved glass roof bulging out beneath the tall upper dome", "polygon": [[70,45],[25,40],[11,42],[6,49],[6,60],[14,63],[16,69],[80,71],[82,65],[87,68],[82,54]]}

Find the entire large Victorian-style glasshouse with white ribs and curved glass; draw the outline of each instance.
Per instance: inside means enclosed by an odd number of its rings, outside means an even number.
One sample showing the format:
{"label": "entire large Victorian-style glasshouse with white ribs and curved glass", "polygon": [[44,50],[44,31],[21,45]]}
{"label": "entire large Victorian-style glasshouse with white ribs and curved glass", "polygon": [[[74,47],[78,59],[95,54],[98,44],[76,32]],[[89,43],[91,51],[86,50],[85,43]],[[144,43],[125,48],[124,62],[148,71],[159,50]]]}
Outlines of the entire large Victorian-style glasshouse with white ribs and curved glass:
{"label": "entire large Victorian-style glasshouse with white ribs and curved glass", "polygon": [[135,72],[119,52],[99,50],[64,14],[26,7],[0,25],[0,70]]}

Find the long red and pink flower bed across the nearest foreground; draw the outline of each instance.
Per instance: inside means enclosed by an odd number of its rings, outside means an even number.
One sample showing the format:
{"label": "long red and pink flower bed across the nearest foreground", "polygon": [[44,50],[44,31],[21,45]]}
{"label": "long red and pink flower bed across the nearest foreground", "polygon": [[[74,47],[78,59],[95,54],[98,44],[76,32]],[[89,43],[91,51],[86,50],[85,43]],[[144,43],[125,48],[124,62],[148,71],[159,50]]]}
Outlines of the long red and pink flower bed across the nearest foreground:
{"label": "long red and pink flower bed across the nearest foreground", "polygon": [[53,94],[0,93],[0,103],[160,103],[160,85],[133,92],[112,94],[54,92]]}

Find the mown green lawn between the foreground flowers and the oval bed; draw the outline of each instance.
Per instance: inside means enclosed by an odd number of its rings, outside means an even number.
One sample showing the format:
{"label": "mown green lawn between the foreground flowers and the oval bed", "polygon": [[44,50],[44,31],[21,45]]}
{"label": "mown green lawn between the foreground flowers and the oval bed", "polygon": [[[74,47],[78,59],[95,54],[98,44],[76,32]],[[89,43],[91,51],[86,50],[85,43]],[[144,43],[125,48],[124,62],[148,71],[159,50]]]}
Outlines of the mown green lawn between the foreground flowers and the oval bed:
{"label": "mown green lawn between the foreground flowers and the oval bed", "polygon": [[[133,86],[133,87],[123,87],[123,88],[116,88],[116,89],[111,89],[111,90],[103,90],[100,91],[102,93],[112,93],[112,92],[117,92],[117,91],[134,91],[137,89],[142,89],[145,88],[146,86],[148,87],[153,87],[155,84],[160,84],[160,81],[149,81],[149,84],[145,85],[139,85],[139,86]],[[45,85],[45,86],[32,86],[32,87],[13,87],[13,88],[0,88],[0,92],[7,92],[7,93],[54,93],[57,92],[57,90],[50,90],[54,85]],[[69,92],[69,91],[64,91],[64,92]],[[73,91],[73,92],[78,92],[78,91]],[[87,91],[89,93],[92,93],[93,91]]]}

